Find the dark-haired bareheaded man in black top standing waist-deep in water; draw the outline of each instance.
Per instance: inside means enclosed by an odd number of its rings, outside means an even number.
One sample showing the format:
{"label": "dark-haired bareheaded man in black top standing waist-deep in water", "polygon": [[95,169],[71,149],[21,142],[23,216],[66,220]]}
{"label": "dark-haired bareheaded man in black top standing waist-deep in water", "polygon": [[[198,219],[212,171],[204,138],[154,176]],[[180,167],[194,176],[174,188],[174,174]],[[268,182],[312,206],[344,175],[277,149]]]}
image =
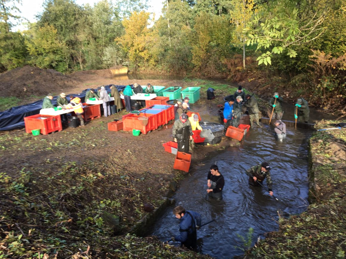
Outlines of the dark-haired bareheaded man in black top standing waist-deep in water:
{"label": "dark-haired bareheaded man in black top standing waist-deep in water", "polygon": [[208,196],[217,201],[222,200],[222,189],[224,189],[225,179],[219,172],[217,165],[210,166],[210,171],[207,176]]}

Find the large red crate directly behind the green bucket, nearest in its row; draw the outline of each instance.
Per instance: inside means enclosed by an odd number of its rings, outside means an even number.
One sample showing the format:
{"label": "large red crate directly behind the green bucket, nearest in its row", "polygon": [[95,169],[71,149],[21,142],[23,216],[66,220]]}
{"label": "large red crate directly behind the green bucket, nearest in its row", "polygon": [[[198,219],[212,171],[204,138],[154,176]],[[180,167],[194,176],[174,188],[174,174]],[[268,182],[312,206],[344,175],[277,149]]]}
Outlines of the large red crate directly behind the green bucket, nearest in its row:
{"label": "large red crate directly behind the green bucket, nearest in its row", "polygon": [[[148,117],[147,125],[144,124],[144,120],[139,119],[139,117]],[[156,116],[155,114],[144,114],[139,115],[130,113],[127,116],[123,116],[122,125],[124,131],[140,130],[143,134],[147,134],[148,131],[155,130]]]}

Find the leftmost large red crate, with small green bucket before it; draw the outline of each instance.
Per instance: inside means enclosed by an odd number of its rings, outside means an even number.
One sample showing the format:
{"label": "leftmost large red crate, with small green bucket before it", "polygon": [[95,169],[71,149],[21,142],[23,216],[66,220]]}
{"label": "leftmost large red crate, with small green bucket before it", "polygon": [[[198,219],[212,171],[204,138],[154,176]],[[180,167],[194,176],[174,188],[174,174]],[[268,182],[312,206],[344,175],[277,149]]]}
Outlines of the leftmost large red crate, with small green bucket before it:
{"label": "leftmost large red crate, with small green bucket before it", "polygon": [[35,114],[24,117],[25,132],[31,133],[31,130],[41,130],[43,135],[54,131],[62,131],[60,115],[41,115]]}

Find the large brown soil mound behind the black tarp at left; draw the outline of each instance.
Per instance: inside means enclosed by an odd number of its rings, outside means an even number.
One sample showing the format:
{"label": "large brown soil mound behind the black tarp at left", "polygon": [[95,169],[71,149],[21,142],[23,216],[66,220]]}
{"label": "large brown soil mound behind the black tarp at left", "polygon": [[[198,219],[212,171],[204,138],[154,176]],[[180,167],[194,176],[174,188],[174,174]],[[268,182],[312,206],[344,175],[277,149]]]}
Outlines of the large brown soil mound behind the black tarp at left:
{"label": "large brown soil mound behind the black tarp at left", "polygon": [[58,94],[78,84],[72,77],[53,69],[25,66],[0,74],[0,96],[25,97]]}

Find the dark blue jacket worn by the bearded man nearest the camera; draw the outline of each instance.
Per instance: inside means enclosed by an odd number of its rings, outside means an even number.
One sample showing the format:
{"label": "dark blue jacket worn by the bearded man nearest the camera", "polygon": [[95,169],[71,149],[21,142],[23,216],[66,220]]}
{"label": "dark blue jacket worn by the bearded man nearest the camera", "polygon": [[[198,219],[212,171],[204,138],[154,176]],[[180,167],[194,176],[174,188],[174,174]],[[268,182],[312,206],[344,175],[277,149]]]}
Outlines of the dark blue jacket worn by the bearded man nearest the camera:
{"label": "dark blue jacket worn by the bearded man nearest the camera", "polygon": [[[188,233],[191,234],[192,232],[196,231],[195,226],[201,226],[201,215],[195,211],[187,210],[190,212],[190,214],[193,217],[193,222],[188,213],[184,214],[184,217],[180,219],[180,229],[179,229],[179,235],[176,235],[174,238],[178,242],[185,242],[188,239]],[[196,224],[194,221],[196,220]]]}

